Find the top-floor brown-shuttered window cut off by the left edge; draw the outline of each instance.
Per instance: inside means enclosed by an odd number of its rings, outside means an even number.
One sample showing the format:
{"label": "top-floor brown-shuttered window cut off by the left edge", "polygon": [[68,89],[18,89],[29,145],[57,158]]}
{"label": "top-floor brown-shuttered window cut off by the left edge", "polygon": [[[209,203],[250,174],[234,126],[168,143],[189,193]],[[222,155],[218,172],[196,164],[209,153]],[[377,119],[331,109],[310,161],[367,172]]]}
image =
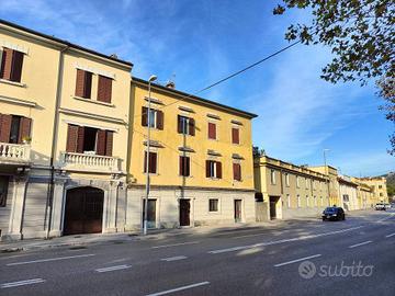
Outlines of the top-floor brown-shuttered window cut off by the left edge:
{"label": "top-floor brown-shuttered window cut off by the left edge", "polygon": [[21,82],[23,53],[3,47],[0,60],[0,79]]}

